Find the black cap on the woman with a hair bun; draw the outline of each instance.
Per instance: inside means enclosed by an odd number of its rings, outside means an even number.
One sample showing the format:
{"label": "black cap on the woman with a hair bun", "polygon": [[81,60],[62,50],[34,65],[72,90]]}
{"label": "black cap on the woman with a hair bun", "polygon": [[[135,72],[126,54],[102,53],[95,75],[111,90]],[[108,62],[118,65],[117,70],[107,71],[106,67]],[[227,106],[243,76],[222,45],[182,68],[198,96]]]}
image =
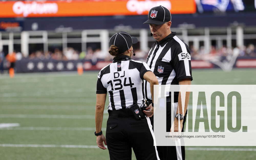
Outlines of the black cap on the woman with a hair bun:
{"label": "black cap on the woman with a hair bun", "polygon": [[129,50],[130,47],[137,43],[138,39],[136,37],[132,37],[127,32],[118,32],[112,35],[109,41],[109,46],[115,45],[119,49],[119,53],[124,53],[125,51]]}

